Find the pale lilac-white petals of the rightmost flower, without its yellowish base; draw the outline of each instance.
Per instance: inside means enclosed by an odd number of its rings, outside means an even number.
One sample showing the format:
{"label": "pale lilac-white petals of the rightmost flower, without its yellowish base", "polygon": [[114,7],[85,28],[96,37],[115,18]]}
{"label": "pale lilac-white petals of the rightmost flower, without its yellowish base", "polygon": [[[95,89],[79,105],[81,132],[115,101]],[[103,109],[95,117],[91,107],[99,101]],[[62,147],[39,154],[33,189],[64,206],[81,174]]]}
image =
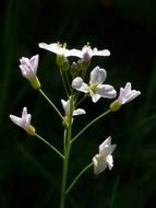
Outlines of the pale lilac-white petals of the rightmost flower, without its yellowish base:
{"label": "pale lilac-white petals of the rightmost flower, without its yellowish base", "polygon": [[118,102],[123,105],[125,103],[129,103],[130,101],[134,100],[136,96],[141,94],[140,91],[131,90],[131,83],[128,82],[123,88],[120,88],[120,94],[118,97]]}

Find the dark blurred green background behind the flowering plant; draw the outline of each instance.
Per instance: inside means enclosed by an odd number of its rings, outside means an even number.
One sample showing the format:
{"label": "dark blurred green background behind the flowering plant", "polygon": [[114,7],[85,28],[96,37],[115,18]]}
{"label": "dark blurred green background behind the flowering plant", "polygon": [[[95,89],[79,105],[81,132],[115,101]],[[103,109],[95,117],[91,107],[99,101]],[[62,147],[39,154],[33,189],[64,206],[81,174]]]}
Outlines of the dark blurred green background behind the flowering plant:
{"label": "dark blurred green background behind the flowering plant", "polygon": [[[9,119],[27,106],[38,134],[61,149],[62,126],[45,100],[22,78],[19,58],[39,54],[43,89],[61,108],[63,89],[55,55],[38,43],[87,42],[108,48],[95,57],[117,90],[132,82],[142,95],[95,124],[73,146],[69,181],[97,152],[109,135],[117,143],[115,167],[98,176],[89,170],[69,196],[68,208],[152,208],[156,198],[156,1],[154,0],[7,0],[0,2],[0,208],[57,208],[61,161]],[[59,92],[59,93],[58,93]],[[109,106],[85,103],[75,132]]]}

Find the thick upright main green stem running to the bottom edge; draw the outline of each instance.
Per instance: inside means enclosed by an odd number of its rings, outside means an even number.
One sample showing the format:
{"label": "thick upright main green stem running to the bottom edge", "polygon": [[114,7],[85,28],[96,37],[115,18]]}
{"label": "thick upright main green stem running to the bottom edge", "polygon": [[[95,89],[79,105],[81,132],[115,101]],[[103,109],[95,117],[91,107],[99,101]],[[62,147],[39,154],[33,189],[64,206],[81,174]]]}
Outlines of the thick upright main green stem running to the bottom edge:
{"label": "thick upright main green stem running to the bottom edge", "polygon": [[65,204],[65,189],[67,189],[67,178],[68,178],[68,166],[69,166],[69,158],[71,150],[71,136],[72,136],[72,113],[73,113],[73,96],[70,97],[70,115],[69,124],[67,126],[67,134],[64,130],[64,159],[63,159],[63,173],[62,173],[62,186],[61,186],[61,199],[60,199],[60,208],[64,208]]}

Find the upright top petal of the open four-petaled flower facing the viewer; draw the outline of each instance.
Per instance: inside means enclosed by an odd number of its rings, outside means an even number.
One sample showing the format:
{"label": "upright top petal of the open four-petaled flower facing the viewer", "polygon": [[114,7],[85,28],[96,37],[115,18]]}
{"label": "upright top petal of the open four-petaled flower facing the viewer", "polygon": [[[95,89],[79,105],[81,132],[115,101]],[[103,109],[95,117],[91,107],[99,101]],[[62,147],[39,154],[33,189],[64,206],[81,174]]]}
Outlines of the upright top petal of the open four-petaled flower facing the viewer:
{"label": "upright top petal of the open four-petaled flower facing the viewer", "polygon": [[95,67],[91,72],[89,84],[98,83],[101,84],[107,77],[105,69],[100,69],[98,66]]}

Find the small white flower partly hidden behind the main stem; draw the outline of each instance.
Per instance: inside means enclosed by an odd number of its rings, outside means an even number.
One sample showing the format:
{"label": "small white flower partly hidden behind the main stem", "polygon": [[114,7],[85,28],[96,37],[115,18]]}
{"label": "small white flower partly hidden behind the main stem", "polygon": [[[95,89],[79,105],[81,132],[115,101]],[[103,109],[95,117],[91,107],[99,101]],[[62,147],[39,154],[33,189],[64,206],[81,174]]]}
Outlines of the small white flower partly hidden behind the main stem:
{"label": "small white flower partly hidden behind the main stem", "polygon": [[[68,101],[61,100],[61,103],[62,103],[62,107],[63,107],[64,113],[65,113],[65,117],[69,118],[69,116],[70,116],[70,100],[68,100]],[[83,114],[86,114],[86,112],[82,108],[77,108],[77,109],[73,111],[72,116],[79,116],[79,115],[83,115]]]}

